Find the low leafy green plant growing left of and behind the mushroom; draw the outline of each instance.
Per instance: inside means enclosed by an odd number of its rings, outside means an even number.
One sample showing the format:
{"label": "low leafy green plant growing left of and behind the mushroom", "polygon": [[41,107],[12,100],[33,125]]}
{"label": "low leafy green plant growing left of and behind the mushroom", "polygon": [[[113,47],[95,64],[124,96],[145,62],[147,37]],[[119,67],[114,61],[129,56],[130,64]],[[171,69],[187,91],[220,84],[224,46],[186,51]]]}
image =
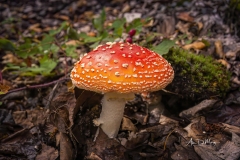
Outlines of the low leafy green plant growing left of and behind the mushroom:
{"label": "low leafy green plant growing left of and behind the mushroom", "polygon": [[[14,44],[7,39],[0,39],[0,50],[11,51],[22,60],[22,63],[7,63],[4,71],[11,70],[11,73],[22,76],[43,76],[55,75],[55,69],[61,56],[78,58],[76,48],[78,45],[84,45],[86,48],[95,48],[100,43],[114,41],[122,38],[123,33],[129,32],[132,28],[140,33],[142,27],[148,22],[148,19],[142,21],[135,19],[127,24],[126,19],[115,19],[111,25],[105,25],[106,13],[103,10],[99,17],[93,19],[92,24],[96,31],[96,36],[90,36],[88,33],[77,33],[70,24],[64,22],[55,30],[50,30],[42,36],[39,41],[31,38],[24,38],[21,44]],[[32,33],[34,34],[34,32]],[[74,40],[76,44],[67,45],[66,42]]]}

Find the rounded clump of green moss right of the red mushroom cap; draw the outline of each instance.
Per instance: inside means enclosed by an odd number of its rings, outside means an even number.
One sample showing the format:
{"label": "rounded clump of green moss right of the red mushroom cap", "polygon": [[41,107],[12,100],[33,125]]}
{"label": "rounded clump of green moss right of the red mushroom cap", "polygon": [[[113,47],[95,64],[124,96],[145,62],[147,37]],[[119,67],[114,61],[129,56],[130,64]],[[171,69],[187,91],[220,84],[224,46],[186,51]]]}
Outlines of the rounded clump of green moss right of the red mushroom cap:
{"label": "rounded clump of green moss right of the red mushroom cap", "polygon": [[172,48],[164,55],[173,66],[175,78],[168,90],[192,100],[224,96],[230,88],[230,73],[210,56]]}

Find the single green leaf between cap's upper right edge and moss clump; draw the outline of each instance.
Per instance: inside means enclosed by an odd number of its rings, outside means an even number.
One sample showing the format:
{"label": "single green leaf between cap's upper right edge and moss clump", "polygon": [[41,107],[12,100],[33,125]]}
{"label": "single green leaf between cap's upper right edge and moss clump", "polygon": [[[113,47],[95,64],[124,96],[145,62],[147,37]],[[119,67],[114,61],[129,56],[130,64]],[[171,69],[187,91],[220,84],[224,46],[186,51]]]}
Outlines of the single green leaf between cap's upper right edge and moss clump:
{"label": "single green leaf between cap's upper right edge and moss clump", "polygon": [[165,39],[159,45],[152,48],[153,51],[157,52],[160,55],[167,54],[169,49],[175,45],[175,41]]}

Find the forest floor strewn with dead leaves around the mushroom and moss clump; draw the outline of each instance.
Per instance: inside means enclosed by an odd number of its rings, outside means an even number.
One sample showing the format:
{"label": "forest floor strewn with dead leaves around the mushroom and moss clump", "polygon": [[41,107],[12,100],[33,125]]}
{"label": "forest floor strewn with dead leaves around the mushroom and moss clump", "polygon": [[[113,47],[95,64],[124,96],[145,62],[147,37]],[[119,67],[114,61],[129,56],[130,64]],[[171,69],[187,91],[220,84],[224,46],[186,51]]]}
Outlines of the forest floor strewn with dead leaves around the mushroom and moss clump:
{"label": "forest floor strewn with dead leaves around the mushroom and moss clump", "polygon": [[[94,23],[103,9],[105,21]],[[239,15],[240,2],[224,0],[0,1],[0,160],[240,159]],[[138,44],[176,40],[195,54],[213,57],[230,73],[230,87],[221,96],[198,99],[171,87],[136,94],[126,104],[117,137],[109,139],[100,130],[94,141],[98,128],[92,121],[99,117],[102,95],[73,90],[69,73],[78,57],[98,43],[101,28],[94,24],[109,26],[121,18],[127,23],[151,18],[142,26],[133,23],[137,34],[132,40]],[[12,49],[12,44],[26,44],[21,47],[28,49],[41,43],[63,22],[87,35],[74,48],[77,57],[66,57],[73,51],[62,39],[42,46],[56,51],[45,54],[47,60],[45,55]],[[59,30],[54,36],[63,34]]]}

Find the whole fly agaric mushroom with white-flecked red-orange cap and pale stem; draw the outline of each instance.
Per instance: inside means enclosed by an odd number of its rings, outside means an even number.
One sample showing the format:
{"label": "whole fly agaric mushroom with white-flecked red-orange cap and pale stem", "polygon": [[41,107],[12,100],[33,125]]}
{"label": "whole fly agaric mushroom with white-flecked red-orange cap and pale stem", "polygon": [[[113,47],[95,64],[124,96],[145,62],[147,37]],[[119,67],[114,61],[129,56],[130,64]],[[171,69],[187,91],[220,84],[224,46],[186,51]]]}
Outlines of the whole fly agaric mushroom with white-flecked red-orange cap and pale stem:
{"label": "whole fly agaric mushroom with white-flecked red-orange cap and pale stem", "polygon": [[126,101],[134,93],[157,91],[172,82],[174,71],[159,54],[122,42],[99,45],[84,55],[71,72],[73,84],[104,94],[100,118],[94,123],[109,138],[117,136]]}

